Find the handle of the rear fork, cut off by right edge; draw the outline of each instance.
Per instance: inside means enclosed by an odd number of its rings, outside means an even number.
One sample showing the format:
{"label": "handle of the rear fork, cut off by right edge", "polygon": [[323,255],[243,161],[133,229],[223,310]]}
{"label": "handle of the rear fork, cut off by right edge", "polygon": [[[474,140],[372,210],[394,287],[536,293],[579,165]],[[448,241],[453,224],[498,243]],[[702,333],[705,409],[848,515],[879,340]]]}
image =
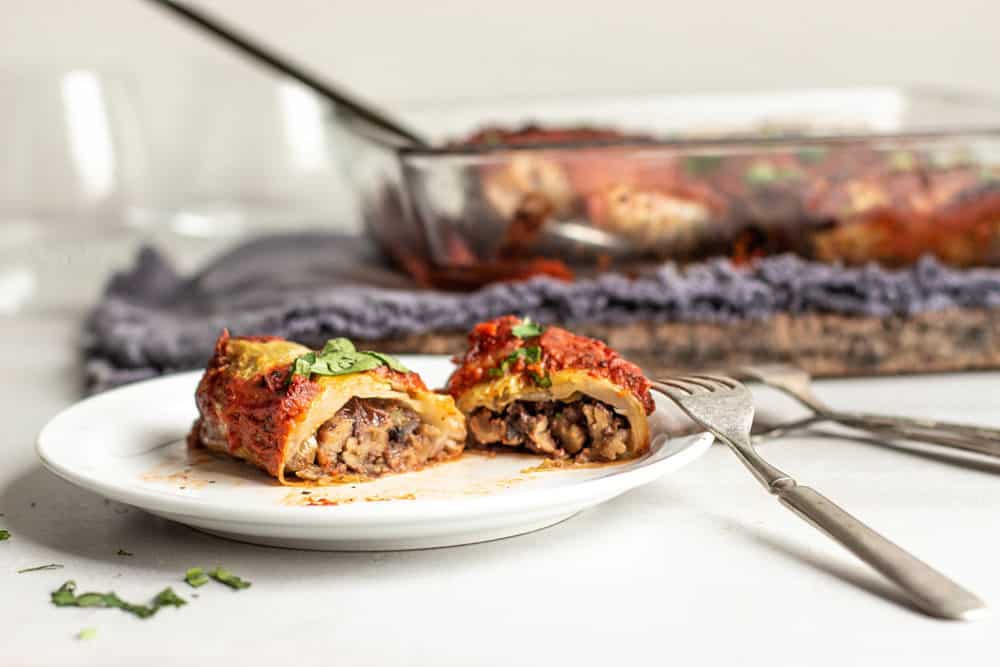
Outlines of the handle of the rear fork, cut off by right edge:
{"label": "handle of the rear fork, cut off by right edge", "polygon": [[854,412],[832,412],[826,416],[852,428],[892,433],[911,440],[932,442],[1000,458],[1000,430],[997,429]]}

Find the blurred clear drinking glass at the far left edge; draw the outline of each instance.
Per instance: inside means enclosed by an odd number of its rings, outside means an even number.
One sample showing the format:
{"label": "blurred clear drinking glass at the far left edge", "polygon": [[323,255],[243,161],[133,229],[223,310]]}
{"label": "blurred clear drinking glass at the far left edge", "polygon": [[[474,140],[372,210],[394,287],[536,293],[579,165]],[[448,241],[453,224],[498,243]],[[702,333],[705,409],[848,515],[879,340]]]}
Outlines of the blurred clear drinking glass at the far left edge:
{"label": "blurred clear drinking glass at the far left edge", "polygon": [[85,303],[102,242],[152,216],[134,90],[93,69],[0,72],[0,99],[0,314]]}

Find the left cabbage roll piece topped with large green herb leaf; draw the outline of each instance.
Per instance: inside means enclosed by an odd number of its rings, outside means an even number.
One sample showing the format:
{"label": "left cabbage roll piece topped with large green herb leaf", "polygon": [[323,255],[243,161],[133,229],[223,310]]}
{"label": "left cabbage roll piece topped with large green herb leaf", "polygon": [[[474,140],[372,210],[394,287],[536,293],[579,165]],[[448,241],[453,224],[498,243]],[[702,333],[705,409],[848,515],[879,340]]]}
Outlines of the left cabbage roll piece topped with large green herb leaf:
{"label": "left cabbage roll piece topped with large green herb leaf", "polygon": [[346,338],[322,350],[281,338],[215,344],[188,437],[282,484],[335,484],[456,458],[465,418],[398,360]]}

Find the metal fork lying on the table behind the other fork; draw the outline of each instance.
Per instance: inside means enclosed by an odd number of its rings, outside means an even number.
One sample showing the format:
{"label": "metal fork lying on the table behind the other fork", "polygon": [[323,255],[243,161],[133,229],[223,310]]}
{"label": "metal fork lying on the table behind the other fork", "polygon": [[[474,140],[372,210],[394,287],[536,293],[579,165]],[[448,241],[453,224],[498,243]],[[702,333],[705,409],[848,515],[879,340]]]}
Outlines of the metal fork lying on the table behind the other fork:
{"label": "metal fork lying on the table behind the other fork", "polygon": [[[774,387],[813,411],[812,417],[781,425],[778,427],[780,433],[805,428],[818,421],[828,420],[862,431],[894,435],[909,440],[920,440],[1000,457],[1000,429],[917,417],[896,417],[835,410],[813,393],[808,373],[786,364],[742,366],[736,369],[735,374],[740,378],[756,380],[769,387]],[[769,437],[773,437],[775,434],[776,432],[770,431],[766,433]]]}

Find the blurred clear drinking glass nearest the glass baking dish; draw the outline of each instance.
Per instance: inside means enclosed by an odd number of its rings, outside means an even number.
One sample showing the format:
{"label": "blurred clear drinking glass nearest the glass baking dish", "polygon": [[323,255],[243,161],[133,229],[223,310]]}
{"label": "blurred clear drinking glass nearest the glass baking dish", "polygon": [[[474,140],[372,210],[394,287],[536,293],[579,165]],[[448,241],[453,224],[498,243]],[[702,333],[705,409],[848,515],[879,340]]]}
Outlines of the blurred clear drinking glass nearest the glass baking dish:
{"label": "blurred clear drinking glass nearest the glass baking dish", "polygon": [[330,107],[257,71],[196,76],[171,228],[191,236],[355,229],[328,136]]}

